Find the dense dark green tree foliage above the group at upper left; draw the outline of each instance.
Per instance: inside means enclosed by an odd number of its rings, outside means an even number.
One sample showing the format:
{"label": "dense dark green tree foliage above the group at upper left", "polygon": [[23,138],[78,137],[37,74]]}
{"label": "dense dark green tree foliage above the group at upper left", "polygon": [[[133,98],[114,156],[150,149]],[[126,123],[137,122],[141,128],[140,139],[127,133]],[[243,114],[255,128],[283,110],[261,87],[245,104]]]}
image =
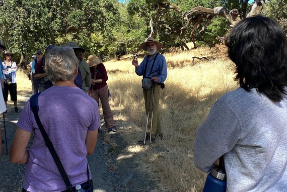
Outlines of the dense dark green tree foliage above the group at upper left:
{"label": "dense dark green tree foliage above the group at upper left", "polygon": [[[87,49],[87,55],[109,55],[103,47],[115,40],[112,30],[119,20],[117,5],[115,0],[7,0],[0,6],[0,36],[7,49],[24,57],[67,41],[76,41]],[[102,41],[94,42],[93,34],[100,35]]]}

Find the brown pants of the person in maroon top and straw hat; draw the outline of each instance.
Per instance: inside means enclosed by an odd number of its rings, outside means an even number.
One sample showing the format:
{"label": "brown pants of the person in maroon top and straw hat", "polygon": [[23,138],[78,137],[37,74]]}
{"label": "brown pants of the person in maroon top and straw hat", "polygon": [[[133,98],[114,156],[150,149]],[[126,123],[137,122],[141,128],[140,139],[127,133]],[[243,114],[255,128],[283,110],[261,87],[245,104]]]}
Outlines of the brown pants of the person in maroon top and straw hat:
{"label": "brown pants of the person in maroon top and straw hat", "polygon": [[112,113],[110,105],[109,105],[108,85],[104,86],[101,89],[92,90],[91,91],[91,97],[94,100],[96,100],[98,105],[99,105],[99,99],[101,100],[106,127],[111,128],[111,127],[115,126],[113,113]]}

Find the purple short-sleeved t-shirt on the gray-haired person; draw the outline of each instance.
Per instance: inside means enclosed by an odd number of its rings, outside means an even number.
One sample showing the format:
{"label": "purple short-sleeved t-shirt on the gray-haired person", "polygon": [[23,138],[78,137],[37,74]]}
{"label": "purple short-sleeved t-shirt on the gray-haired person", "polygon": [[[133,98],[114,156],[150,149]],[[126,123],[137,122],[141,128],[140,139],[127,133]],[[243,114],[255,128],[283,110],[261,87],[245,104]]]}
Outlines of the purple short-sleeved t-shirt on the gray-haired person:
{"label": "purple short-sleeved t-shirt on the gray-haired person", "polygon": [[[45,145],[28,101],[17,126],[34,133],[23,187],[28,191],[66,189],[58,168]],[[38,98],[39,118],[73,186],[88,180],[87,131],[100,127],[99,107],[78,87],[52,86]],[[92,177],[90,171],[90,178]]]}

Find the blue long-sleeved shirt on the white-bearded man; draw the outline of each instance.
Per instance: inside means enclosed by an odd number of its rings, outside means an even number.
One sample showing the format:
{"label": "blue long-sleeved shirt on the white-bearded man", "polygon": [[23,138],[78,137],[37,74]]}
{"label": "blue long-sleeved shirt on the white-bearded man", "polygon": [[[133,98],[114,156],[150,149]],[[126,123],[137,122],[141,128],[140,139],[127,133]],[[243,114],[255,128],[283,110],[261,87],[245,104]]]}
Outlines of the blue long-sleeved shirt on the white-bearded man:
{"label": "blue long-sleeved shirt on the white-bearded man", "polygon": [[[138,68],[135,68],[135,73],[139,76],[143,75],[143,77],[150,77],[158,76],[159,82],[163,83],[167,78],[167,62],[165,57],[162,54],[158,54],[154,67],[152,69],[152,65],[154,63],[156,54],[153,56],[152,59],[150,59],[150,55],[147,55],[139,64]],[[148,60],[149,59],[149,60]],[[145,72],[146,64],[148,60],[148,66],[146,70],[146,74],[143,74]],[[151,72],[152,69],[152,72]]]}

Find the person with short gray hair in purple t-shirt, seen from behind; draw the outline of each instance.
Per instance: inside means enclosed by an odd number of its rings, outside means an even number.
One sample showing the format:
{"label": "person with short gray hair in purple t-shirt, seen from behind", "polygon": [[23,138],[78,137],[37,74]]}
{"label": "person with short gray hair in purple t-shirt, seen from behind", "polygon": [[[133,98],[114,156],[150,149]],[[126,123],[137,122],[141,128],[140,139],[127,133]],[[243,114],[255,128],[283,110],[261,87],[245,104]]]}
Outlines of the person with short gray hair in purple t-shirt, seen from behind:
{"label": "person with short gray hair in purple t-shirt, seen from behind", "polygon": [[[97,142],[100,127],[98,104],[74,83],[78,59],[72,48],[55,47],[50,50],[45,70],[54,86],[39,94],[40,121],[73,189],[78,184],[90,183],[93,191],[86,156],[93,153]],[[22,191],[67,191],[30,105],[29,100],[17,123],[10,149],[11,162],[27,164]],[[26,149],[32,132],[33,144]]]}

